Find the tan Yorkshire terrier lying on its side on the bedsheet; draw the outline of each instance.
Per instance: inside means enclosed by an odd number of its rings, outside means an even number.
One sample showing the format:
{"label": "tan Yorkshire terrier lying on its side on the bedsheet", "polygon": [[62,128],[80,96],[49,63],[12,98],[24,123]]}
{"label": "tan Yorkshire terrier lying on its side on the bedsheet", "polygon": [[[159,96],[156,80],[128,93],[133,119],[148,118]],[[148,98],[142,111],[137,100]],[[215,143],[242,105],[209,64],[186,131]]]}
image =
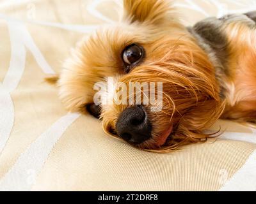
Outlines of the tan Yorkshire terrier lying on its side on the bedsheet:
{"label": "tan Yorkshire terrier lying on its side on the bedsheet", "polygon": [[[120,22],[78,43],[60,77],[48,81],[58,83],[67,110],[101,119],[108,135],[170,152],[212,137],[205,130],[218,119],[256,122],[255,64],[256,11],[186,27],[170,1],[124,0]],[[95,104],[93,87],[109,77],[112,90],[102,96],[108,100],[116,83],[161,82],[161,110],[151,111],[151,103]]]}

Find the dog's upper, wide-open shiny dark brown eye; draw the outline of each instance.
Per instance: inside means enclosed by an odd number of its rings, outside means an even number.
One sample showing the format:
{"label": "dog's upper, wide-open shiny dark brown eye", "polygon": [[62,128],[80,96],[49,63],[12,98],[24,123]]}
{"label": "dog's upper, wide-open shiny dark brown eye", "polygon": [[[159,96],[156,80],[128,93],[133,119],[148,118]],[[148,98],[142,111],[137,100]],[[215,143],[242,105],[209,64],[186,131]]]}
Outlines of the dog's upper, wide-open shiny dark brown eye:
{"label": "dog's upper, wide-open shiny dark brown eye", "polygon": [[126,47],[123,51],[123,61],[125,64],[125,72],[129,73],[131,68],[136,66],[144,56],[144,49],[139,45],[132,44]]}

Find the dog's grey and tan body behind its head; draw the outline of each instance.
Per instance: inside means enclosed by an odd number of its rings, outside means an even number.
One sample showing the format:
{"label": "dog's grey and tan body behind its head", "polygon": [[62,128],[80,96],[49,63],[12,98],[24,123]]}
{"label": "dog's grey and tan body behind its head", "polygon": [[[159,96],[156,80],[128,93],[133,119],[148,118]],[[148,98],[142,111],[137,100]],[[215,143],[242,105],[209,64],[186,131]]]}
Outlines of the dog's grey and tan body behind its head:
{"label": "dog's grey and tan body behind its head", "polygon": [[223,119],[256,121],[256,11],[207,18],[189,31],[214,64]]}

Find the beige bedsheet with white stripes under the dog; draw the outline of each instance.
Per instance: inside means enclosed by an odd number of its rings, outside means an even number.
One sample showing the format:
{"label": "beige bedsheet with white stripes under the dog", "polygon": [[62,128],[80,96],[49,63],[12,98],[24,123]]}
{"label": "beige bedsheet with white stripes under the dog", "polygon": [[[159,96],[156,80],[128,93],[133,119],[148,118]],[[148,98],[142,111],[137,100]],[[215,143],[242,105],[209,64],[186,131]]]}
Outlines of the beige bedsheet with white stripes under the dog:
{"label": "beige bedsheet with white stripes under the dog", "polygon": [[[150,0],[148,0],[150,1]],[[254,0],[176,1],[186,24],[256,10]],[[77,40],[118,19],[122,1],[0,1],[0,190],[256,191],[256,131],[219,121],[219,140],[170,154],[134,149],[67,113],[59,73]]]}

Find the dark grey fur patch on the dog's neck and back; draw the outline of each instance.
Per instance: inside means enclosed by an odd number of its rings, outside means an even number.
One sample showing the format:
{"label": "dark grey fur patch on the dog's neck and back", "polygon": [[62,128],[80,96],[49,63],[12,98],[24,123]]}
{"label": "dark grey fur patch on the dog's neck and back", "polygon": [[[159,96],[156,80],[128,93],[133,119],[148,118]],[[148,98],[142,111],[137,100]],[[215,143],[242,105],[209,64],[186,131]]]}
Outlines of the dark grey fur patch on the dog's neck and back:
{"label": "dark grey fur patch on the dog's neck and back", "polygon": [[256,11],[242,14],[242,15],[226,15],[222,18],[206,18],[193,27],[188,27],[198,45],[207,53],[210,61],[214,65],[215,75],[218,82],[220,82],[220,97],[225,98],[225,85],[221,83],[226,77],[230,75],[227,67],[227,60],[229,57],[228,52],[228,39],[225,34],[225,25],[232,22],[242,22],[248,27],[255,28]]}

